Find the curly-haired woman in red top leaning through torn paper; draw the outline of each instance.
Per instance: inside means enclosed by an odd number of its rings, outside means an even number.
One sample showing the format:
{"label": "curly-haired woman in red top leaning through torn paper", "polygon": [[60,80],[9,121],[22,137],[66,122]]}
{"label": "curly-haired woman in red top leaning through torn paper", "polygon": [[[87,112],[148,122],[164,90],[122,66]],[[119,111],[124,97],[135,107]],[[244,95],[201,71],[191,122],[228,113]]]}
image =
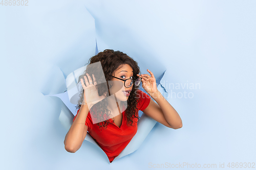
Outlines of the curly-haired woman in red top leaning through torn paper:
{"label": "curly-haired woman in red top leaning through torn paper", "polygon": [[[182,127],[179,114],[158,91],[150,70],[147,69],[150,75],[139,75],[136,61],[113,50],[98,53],[89,65],[97,62],[104,75],[97,74],[99,68],[87,67],[84,82],[80,79],[83,90],[79,110],[64,141],[68,152],[75,153],[81,147],[88,131],[112,162],[136,134],[138,110],[168,128]],[[148,94],[138,89],[140,81]]]}

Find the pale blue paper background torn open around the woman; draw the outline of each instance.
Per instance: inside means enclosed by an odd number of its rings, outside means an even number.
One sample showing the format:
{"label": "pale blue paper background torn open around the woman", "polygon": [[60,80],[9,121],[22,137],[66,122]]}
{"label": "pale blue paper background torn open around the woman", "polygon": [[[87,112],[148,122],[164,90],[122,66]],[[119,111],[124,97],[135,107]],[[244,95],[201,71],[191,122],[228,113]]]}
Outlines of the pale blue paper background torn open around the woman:
{"label": "pale blue paper background torn open around the woman", "polygon": [[[255,9],[248,0],[0,5],[1,169],[255,162]],[[96,39],[99,51],[128,54],[142,73],[166,70],[168,83],[200,84],[166,89],[194,94],[167,98],[181,129],[157,123],[137,151],[111,164],[88,141],[75,154],[64,149],[61,101],[44,96],[66,90],[64,78],[95,54]]]}

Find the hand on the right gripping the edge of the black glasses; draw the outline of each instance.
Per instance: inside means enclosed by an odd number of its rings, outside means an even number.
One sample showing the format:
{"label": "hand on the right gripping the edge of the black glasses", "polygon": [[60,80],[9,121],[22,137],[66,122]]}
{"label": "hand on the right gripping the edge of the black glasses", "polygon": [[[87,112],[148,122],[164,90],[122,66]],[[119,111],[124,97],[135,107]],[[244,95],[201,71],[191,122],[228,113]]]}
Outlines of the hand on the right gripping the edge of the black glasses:
{"label": "hand on the right gripping the edge of the black glasses", "polygon": [[153,72],[151,72],[149,69],[147,69],[147,71],[150,73],[151,77],[147,74],[142,74],[142,75],[137,75],[137,76],[142,78],[141,79],[142,88],[144,88],[145,91],[152,96],[153,93],[158,92],[157,83],[156,83],[156,79],[154,77]]}

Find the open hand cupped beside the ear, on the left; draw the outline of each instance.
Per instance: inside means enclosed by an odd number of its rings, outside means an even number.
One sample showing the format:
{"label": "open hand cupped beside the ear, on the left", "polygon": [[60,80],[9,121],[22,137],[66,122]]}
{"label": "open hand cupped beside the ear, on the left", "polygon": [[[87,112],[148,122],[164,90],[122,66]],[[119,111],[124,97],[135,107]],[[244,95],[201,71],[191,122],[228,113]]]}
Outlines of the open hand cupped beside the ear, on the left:
{"label": "open hand cupped beside the ear, on the left", "polygon": [[[97,82],[96,79],[93,76],[93,80],[91,76],[87,73],[87,76],[84,76],[84,82],[80,79],[82,87],[83,87],[83,101],[82,105],[88,105],[89,109],[95,105],[96,103],[100,102],[105,98],[104,95],[99,96],[98,89],[96,88]],[[88,78],[88,79],[87,79]]]}

